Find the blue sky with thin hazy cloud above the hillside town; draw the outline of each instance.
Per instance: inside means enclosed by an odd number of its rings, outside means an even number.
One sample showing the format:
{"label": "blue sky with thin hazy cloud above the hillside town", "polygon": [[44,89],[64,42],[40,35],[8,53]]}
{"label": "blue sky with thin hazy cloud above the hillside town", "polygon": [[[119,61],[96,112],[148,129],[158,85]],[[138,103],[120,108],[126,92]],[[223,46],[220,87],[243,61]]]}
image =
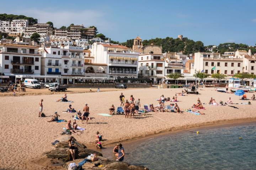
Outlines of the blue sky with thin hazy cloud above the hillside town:
{"label": "blue sky with thin hazy cloud above the hillside town", "polygon": [[256,1],[252,0],[12,0],[1,1],[0,13],[26,15],[54,27],[96,26],[112,40],[139,35],[177,38],[178,34],[204,45],[256,43]]}

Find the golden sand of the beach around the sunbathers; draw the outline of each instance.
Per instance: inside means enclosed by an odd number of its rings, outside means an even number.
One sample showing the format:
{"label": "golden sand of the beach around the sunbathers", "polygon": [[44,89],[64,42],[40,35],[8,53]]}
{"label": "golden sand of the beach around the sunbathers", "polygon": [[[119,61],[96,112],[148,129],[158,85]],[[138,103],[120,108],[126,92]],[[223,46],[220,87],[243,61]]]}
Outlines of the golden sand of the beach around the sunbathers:
{"label": "golden sand of the beach around the sunbathers", "polygon": [[[97,131],[103,134],[103,146],[112,142],[123,141],[140,136],[156,134],[162,131],[169,131],[191,126],[200,126],[209,123],[216,123],[235,119],[255,119],[256,101],[251,101],[252,105],[234,104],[235,109],[229,106],[204,105],[206,110],[202,112],[205,115],[194,115],[184,112],[178,113],[149,113],[146,116],[137,115],[134,119],[125,119],[124,115],[114,115],[104,117],[97,113],[108,113],[111,104],[115,107],[120,105],[119,95],[121,91],[106,91],[95,93],[68,94],[68,99],[74,101],[72,107],[76,110],[82,110],[85,103],[90,107],[90,116],[95,118],[89,121],[89,124],[81,124],[85,128],[83,134],[75,135],[80,142],[92,144],[95,140]],[[160,95],[165,97],[174,96],[175,92],[181,92],[181,89],[127,89],[123,91],[126,99],[133,95],[138,97],[143,104],[157,104],[156,99]],[[209,98],[213,97],[219,100],[227,101],[231,97],[234,103],[248,101],[239,100],[234,94],[225,94],[214,91],[213,88],[204,88],[199,90],[199,95],[189,94],[188,96],[178,96],[177,104],[184,111],[190,108],[199,97],[201,102],[208,103]],[[251,97],[253,93],[247,93]],[[0,169],[30,169],[30,161],[42,158],[44,152],[53,149],[51,145],[55,139],[62,137],[60,133],[65,126],[65,122],[48,123],[50,117],[38,118],[38,102],[43,99],[43,113],[46,116],[53,115],[55,111],[60,115],[59,119],[69,120],[74,113],[62,113],[66,110],[69,103],[54,102],[62,95],[39,95],[39,96],[19,96],[19,97],[0,97],[0,117],[2,130],[0,142],[2,145],[0,154]],[[168,102],[169,104],[169,102]],[[38,168],[39,169],[39,168]],[[43,168],[42,168],[43,169]]]}

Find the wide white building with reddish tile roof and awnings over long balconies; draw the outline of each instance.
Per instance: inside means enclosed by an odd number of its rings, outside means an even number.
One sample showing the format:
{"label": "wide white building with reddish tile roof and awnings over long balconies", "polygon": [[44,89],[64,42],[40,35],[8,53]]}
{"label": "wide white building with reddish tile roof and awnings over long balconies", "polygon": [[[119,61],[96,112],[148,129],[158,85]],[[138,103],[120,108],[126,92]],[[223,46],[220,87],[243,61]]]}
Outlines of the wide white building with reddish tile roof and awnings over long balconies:
{"label": "wide white building with reddish tile roof and awnings over long balconies", "polygon": [[127,80],[137,78],[138,56],[139,53],[133,53],[132,49],[126,46],[97,42],[92,44],[91,57],[94,57],[94,63],[106,65],[104,71],[107,77]]}

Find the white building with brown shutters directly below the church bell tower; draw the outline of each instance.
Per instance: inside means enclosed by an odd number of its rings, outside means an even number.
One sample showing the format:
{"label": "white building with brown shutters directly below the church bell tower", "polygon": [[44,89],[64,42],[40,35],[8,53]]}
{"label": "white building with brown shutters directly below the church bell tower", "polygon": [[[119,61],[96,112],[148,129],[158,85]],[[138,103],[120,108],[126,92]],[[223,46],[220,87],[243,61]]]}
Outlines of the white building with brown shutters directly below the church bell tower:
{"label": "white building with brown shutters directly below the church bell tower", "polygon": [[138,58],[139,76],[154,82],[164,80],[167,62],[162,54],[140,54]]}

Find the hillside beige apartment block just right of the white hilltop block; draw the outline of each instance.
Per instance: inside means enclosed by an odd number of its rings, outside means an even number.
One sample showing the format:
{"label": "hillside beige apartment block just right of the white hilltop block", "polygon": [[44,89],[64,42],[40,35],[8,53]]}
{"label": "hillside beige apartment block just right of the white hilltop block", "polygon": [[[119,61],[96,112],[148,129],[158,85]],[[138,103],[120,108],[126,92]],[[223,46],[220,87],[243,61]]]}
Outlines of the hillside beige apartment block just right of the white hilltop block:
{"label": "hillside beige apartment block just right of the white hilltop block", "polygon": [[38,33],[42,36],[44,35],[52,35],[53,28],[50,27],[49,24],[41,23],[41,24],[34,24],[33,26],[27,26],[26,33],[31,35],[33,33]]}

